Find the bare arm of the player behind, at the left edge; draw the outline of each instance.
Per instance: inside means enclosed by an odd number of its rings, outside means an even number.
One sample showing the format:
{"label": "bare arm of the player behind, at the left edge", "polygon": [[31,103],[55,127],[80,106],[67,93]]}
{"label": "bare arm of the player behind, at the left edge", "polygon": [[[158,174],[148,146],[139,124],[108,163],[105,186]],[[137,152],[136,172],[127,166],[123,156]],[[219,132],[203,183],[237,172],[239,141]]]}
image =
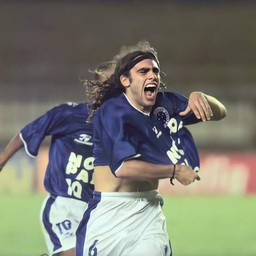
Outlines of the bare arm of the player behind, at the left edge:
{"label": "bare arm of the player behind, at the left edge", "polygon": [[6,146],[5,150],[0,152],[0,171],[2,171],[8,160],[23,146],[19,134],[16,134]]}

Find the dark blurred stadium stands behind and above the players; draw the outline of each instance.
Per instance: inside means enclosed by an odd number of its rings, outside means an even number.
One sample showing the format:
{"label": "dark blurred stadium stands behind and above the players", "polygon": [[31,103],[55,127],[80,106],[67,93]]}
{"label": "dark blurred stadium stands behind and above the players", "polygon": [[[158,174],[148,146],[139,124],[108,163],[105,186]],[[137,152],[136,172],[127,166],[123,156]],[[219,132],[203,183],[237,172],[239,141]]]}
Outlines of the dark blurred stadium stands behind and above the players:
{"label": "dark blurred stadium stands behind and above the players", "polygon": [[256,148],[255,11],[253,1],[0,1],[0,145],[56,104],[84,101],[79,78],[146,39],[169,90],[227,108],[191,127],[199,148]]}

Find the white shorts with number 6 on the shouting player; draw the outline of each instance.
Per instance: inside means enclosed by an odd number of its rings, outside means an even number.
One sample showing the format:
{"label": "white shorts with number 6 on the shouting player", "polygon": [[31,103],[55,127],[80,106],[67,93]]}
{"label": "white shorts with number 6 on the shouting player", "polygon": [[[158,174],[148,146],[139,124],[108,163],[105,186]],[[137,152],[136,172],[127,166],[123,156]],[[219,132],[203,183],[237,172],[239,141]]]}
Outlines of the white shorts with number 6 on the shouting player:
{"label": "white shorts with number 6 on the shouting player", "polygon": [[94,191],[76,236],[76,256],[170,256],[158,191]]}

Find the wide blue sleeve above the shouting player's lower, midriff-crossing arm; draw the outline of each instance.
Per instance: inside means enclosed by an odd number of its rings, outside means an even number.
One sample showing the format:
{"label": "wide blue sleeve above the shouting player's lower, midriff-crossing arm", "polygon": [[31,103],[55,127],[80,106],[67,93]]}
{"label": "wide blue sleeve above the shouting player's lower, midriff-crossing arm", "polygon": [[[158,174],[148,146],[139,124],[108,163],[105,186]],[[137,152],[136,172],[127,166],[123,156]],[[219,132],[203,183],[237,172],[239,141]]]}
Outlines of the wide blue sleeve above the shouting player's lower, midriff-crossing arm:
{"label": "wide blue sleeve above the shouting player's lower, midriff-crossing arm", "polygon": [[94,166],[109,165],[114,175],[125,160],[141,156],[142,137],[132,122],[126,121],[125,116],[101,109],[93,117]]}

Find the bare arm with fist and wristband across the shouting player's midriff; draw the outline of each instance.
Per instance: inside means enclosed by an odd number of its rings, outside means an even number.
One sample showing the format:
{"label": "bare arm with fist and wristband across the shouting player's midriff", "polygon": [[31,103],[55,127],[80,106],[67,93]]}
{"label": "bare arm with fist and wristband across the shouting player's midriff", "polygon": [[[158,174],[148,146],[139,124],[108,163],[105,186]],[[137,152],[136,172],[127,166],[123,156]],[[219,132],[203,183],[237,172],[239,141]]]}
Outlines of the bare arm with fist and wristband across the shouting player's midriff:
{"label": "bare arm with fist and wristband across the shouting player's midriff", "polygon": [[187,165],[176,165],[175,172],[173,172],[174,165],[156,165],[132,159],[123,163],[116,172],[116,177],[142,181],[174,177],[183,185],[189,185],[195,179],[200,180],[198,174]]}

